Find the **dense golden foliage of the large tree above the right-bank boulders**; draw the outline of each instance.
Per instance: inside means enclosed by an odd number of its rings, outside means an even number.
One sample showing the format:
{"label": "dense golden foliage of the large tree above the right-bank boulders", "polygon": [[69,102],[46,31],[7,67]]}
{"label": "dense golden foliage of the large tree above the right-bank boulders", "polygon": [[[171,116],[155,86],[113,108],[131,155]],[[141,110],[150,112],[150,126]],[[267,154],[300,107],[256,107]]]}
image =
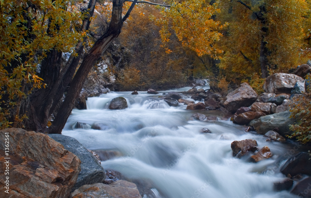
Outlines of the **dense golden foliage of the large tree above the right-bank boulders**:
{"label": "dense golden foliage of the large tree above the right-bank boulders", "polygon": [[[229,81],[261,76],[262,43],[267,48],[269,72],[288,72],[307,58],[304,24],[309,12],[304,0],[220,1],[216,19],[228,22],[219,67]],[[310,58],[310,57],[309,57]],[[254,78],[257,78],[254,76]],[[254,80],[254,79],[253,79]]]}

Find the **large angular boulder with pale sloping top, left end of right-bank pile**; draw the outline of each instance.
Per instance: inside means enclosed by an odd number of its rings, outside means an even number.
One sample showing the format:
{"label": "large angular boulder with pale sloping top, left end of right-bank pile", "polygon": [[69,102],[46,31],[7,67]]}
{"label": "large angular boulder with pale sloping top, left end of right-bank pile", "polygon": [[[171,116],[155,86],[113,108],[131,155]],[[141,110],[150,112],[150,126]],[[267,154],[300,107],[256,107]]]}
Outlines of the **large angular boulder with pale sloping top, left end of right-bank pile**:
{"label": "large angular boulder with pale sloping top, left end of right-bank pile", "polygon": [[240,107],[245,107],[253,104],[257,99],[257,93],[247,83],[242,83],[240,87],[227,95],[224,102],[225,108],[234,113]]}

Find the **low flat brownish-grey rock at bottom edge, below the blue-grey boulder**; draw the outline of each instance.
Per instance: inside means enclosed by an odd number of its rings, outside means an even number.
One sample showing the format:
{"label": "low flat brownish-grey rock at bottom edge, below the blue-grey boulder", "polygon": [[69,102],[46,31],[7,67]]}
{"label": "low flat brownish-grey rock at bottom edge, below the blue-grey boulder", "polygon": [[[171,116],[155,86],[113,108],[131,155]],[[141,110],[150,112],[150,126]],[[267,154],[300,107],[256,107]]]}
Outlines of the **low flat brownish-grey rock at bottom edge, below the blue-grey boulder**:
{"label": "low flat brownish-grey rock at bottom edge, below the blue-grey boulder", "polygon": [[118,180],[109,185],[95,183],[73,191],[69,198],[142,198],[134,183]]}

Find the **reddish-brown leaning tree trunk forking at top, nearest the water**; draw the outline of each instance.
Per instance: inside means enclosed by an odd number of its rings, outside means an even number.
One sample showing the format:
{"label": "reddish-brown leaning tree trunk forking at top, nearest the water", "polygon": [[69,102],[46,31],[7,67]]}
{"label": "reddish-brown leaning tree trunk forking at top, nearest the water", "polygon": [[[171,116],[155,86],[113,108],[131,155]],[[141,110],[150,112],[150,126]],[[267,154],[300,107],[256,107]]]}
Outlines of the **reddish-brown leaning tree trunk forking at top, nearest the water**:
{"label": "reddish-brown leaning tree trunk forking at top, nearest the water", "polygon": [[121,32],[123,21],[128,18],[137,0],[132,3],[126,15],[122,18],[123,0],[114,0],[111,13],[111,22],[107,31],[102,35],[86,54],[83,59],[75,77],[71,82],[71,86],[67,91],[66,98],[58,112],[52,125],[46,130],[48,133],[60,134],[65,126],[67,119],[74,107],[75,101],[78,98],[82,85],[84,84],[88,73],[95,64],[95,62],[102,56],[109,45],[118,37]]}

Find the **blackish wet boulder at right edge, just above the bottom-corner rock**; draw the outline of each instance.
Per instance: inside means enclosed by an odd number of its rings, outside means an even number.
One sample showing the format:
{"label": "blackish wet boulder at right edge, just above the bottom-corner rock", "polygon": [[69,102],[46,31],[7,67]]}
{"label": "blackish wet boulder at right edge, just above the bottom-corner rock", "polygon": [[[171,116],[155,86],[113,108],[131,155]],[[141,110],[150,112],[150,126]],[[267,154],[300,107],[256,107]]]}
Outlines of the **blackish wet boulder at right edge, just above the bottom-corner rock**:
{"label": "blackish wet boulder at right edge, just above the bottom-corner rock", "polygon": [[281,167],[281,173],[286,176],[295,176],[298,174],[311,175],[311,159],[310,155],[306,152],[300,152],[295,156],[288,159]]}

